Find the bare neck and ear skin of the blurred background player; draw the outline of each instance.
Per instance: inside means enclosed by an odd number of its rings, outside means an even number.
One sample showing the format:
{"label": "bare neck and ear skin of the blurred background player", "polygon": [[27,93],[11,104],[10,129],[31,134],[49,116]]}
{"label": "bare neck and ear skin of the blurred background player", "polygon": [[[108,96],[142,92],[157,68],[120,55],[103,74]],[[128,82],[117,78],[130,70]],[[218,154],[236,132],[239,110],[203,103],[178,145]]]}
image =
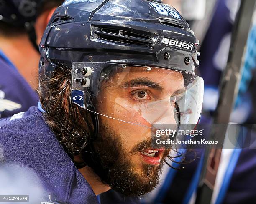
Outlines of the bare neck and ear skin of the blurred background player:
{"label": "bare neck and ear skin of the blurred background player", "polygon": [[[46,10],[36,19],[35,30],[38,45],[55,9],[56,7]],[[40,55],[33,47],[27,33],[20,33],[13,36],[0,34],[0,50],[13,62],[29,85],[36,90],[38,86],[38,63]]]}

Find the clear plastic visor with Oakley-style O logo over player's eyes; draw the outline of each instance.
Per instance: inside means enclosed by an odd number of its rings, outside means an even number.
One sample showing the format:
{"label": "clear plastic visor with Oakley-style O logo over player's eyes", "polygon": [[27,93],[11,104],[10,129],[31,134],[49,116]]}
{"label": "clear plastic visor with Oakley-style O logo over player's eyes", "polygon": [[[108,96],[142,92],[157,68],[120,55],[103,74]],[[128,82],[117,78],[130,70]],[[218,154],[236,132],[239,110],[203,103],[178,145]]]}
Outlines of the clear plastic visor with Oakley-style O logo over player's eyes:
{"label": "clear plastic visor with Oakley-style O logo over player's eyes", "polygon": [[72,65],[72,102],[123,122],[197,124],[202,100],[203,80],[196,75],[148,66]]}

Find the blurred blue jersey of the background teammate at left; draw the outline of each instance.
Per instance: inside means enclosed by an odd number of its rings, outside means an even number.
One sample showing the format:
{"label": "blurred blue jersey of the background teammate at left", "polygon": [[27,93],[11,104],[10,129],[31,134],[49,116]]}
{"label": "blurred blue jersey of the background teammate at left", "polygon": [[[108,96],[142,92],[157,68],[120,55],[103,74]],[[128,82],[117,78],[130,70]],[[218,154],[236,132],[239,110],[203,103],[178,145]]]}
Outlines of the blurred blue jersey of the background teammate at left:
{"label": "blurred blue jersey of the background teammate at left", "polygon": [[36,92],[0,50],[0,118],[26,111],[37,102]]}

